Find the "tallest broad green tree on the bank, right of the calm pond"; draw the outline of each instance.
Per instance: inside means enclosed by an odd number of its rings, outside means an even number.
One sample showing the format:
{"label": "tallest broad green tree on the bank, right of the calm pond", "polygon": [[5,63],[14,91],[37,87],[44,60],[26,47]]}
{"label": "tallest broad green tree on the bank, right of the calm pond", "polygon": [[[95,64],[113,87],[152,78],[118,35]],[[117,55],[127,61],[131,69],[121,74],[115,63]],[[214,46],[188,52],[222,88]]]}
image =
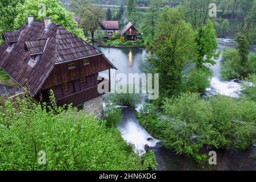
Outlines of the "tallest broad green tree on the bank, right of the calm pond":
{"label": "tallest broad green tree on the bank, right of the calm pond", "polygon": [[155,39],[148,58],[152,72],[159,73],[160,93],[176,94],[182,71],[195,57],[195,36],[179,9],[165,7],[156,23]]}

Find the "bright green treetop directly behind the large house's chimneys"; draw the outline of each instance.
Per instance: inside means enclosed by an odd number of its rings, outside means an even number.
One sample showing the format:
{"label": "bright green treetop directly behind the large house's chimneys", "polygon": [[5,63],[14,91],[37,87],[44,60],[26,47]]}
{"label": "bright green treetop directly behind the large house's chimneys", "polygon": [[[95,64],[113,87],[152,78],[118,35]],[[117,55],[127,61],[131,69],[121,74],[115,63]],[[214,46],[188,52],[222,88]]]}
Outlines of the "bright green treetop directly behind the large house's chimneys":
{"label": "bright green treetop directly behind the large house's chimneys", "polygon": [[[46,14],[39,13],[42,4],[46,5]],[[61,24],[64,28],[73,34],[85,39],[84,32],[77,28],[77,22],[73,20],[75,14],[69,13],[63,8],[57,0],[26,0],[23,4],[19,3],[16,7],[16,18],[14,19],[14,28],[17,29],[27,22],[27,16],[33,15],[36,20],[43,20],[44,16],[50,17],[53,23]]]}

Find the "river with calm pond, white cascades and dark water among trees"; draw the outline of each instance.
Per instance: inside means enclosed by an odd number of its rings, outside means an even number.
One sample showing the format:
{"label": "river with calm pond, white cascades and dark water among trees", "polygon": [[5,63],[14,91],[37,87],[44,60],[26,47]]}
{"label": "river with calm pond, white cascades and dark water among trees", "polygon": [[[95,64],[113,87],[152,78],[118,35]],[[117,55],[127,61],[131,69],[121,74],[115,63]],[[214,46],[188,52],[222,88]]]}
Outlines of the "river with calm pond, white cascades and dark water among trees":
{"label": "river with calm pond, white cascades and dark water among trees", "polygon": [[[142,61],[145,59],[146,51],[137,48],[103,48],[98,47],[96,43],[93,46],[100,49],[106,57],[118,68],[115,74],[142,73]],[[236,42],[232,39],[218,39],[218,51],[225,48],[236,47]],[[255,47],[251,48],[255,52]],[[207,89],[207,95],[220,93],[225,96],[239,97],[241,86],[237,80],[222,81],[220,75],[220,59],[216,60],[216,65],[210,67],[213,71],[213,77],[210,87]],[[112,77],[113,79],[113,77]],[[123,119],[118,129],[122,133],[123,139],[128,143],[133,143],[141,154],[144,154],[144,145],[148,144],[155,152],[156,160],[159,164],[158,170],[204,170],[201,164],[197,164],[193,159],[183,155],[176,155],[175,152],[163,147],[159,140],[152,137],[143,129],[136,118],[137,111],[142,107],[144,101],[136,109],[124,107],[122,109]],[[255,155],[255,148],[250,147],[246,151],[217,151],[217,170],[255,170],[256,160],[250,158]]]}

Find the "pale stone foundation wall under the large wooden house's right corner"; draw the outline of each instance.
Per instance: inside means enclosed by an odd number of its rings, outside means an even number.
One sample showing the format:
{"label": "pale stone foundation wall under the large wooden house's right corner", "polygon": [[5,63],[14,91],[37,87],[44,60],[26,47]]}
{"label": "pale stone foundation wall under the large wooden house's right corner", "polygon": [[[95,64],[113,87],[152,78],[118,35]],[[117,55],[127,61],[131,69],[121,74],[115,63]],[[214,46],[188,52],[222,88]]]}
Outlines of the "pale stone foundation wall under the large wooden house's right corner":
{"label": "pale stone foundation wall under the large wooden house's right corner", "polygon": [[97,97],[84,103],[84,109],[88,114],[94,113],[97,118],[103,118],[103,97]]}

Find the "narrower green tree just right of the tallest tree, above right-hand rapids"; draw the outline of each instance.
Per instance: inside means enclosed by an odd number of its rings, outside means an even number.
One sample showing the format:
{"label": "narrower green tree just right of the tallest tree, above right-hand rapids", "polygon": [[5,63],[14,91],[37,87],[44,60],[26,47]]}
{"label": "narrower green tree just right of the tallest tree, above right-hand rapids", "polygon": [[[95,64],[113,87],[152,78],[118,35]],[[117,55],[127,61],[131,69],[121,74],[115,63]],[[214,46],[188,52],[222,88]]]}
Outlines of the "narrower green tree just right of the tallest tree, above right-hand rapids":
{"label": "narrower green tree just right of the tallest tree, above right-hand rapids", "polygon": [[214,59],[217,59],[218,53],[216,49],[218,46],[216,32],[210,20],[206,24],[197,28],[196,30],[196,43],[197,43],[197,60],[196,65],[198,68],[202,67],[204,63],[216,64]]}

